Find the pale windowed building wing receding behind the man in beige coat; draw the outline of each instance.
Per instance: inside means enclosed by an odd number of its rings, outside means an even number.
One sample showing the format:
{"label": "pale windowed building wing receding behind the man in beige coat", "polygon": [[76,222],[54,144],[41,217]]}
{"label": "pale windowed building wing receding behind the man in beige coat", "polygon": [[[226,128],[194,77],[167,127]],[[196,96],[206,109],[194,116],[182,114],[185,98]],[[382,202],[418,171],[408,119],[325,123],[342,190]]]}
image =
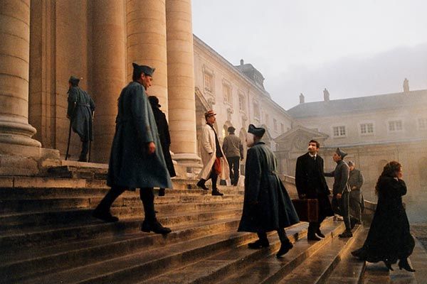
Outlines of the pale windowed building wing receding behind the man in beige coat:
{"label": "pale windowed building wing receding behind the man in beige coat", "polygon": [[292,128],[292,118],[271,99],[263,75],[253,65],[243,60],[240,65],[232,65],[196,36],[194,77],[198,141],[204,113],[209,109],[217,114],[215,127],[220,141],[233,126],[244,143],[248,125],[255,124],[267,129],[265,142],[275,148],[273,139]]}

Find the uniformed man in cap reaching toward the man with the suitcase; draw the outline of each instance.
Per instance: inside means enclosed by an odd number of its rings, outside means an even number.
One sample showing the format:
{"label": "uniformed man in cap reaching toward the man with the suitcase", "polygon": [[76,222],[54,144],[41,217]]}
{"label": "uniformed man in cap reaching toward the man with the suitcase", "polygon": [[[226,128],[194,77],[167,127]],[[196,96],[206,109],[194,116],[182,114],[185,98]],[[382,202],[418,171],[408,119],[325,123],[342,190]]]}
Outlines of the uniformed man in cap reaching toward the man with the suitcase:
{"label": "uniformed man in cap reaching toward the man with the suitcase", "polygon": [[344,218],[345,231],[339,234],[340,238],[350,238],[353,236],[349,214],[349,166],[343,160],[346,155],[347,153],[337,148],[333,156],[337,166],[331,173],[325,173],[325,177],[334,177],[334,185],[332,187],[332,209]]}

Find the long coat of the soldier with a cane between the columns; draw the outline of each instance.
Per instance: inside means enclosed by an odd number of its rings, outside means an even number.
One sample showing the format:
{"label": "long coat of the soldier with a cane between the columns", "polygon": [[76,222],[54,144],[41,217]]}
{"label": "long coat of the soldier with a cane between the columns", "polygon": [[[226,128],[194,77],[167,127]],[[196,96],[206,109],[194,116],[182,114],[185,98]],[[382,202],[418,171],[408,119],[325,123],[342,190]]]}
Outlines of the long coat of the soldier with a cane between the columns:
{"label": "long coat of the soldier with a cane between the columns", "polygon": [[68,89],[67,116],[71,119],[71,126],[78,133],[81,141],[93,141],[92,112],[95,103],[89,94],[78,86]]}

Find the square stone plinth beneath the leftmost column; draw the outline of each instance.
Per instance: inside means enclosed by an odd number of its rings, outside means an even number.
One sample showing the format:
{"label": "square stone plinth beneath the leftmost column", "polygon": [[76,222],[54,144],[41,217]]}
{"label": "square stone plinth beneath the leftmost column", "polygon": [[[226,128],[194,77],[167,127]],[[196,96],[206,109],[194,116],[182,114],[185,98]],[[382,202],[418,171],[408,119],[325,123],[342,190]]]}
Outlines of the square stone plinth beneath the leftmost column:
{"label": "square stone plinth beneath the leftmost column", "polygon": [[0,175],[43,175],[60,165],[59,151],[0,142]]}

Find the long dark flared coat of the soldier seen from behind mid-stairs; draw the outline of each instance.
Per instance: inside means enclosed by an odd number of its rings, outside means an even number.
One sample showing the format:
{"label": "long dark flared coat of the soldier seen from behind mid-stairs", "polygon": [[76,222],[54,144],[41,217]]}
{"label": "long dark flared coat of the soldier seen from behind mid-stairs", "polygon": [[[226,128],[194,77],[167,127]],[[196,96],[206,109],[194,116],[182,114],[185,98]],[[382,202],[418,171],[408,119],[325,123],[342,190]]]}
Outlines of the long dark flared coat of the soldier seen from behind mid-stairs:
{"label": "long dark flared coat of the soldier seen from behind mid-stairs", "polygon": [[265,143],[258,142],[248,150],[238,231],[273,231],[300,222],[276,169],[275,155]]}

